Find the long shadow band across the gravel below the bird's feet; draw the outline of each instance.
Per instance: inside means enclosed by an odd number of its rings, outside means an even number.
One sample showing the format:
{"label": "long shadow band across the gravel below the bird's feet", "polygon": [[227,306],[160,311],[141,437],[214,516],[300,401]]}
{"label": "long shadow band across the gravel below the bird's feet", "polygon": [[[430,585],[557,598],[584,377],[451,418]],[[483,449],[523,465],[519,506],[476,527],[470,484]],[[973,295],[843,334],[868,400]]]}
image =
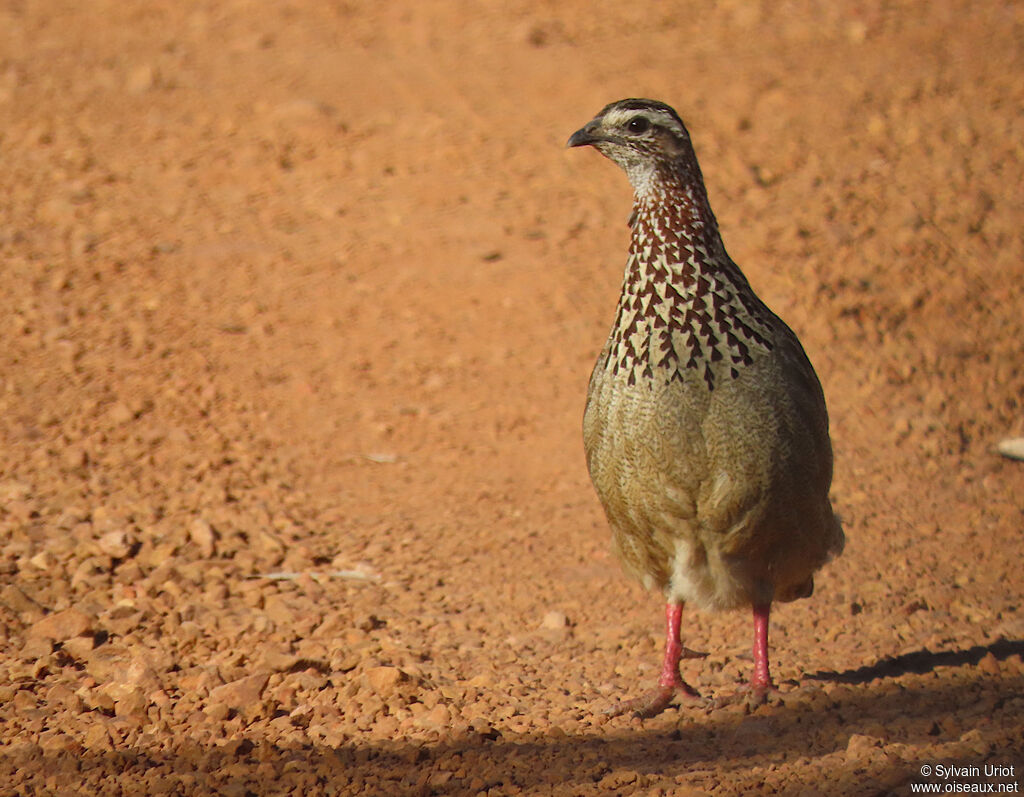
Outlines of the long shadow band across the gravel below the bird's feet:
{"label": "long shadow band across the gravel below the bird's feet", "polygon": [[[1022,652],[1020,640],[921,651],[856,670],[816,673],[809,679],[820,685],[783,695],[781,705],[751,714],[669,711],[644,724],[613,720],[574,733],[505,730],[433,744],[353,740],[337,747],[278,745],[255,738],[219,746],[179,740],[160,751],[99,754],[53,754],[30,746],[0,751],[0,782],[44,784],[67,770],[76,779],[116,773],[118,788],[112,793],[123,795],[152,793],[147,779],[153,778],[161,779],[164,791],[191,793],[201,787],[203,793],[240,797],[285,793],[293,785],[301,793],[461,795],[490,789],[501,794],[644,794],[655,788],[671,791],[676,779],[698,789],[717,788],[723,777],[735,790],[763,788],[778,764],[799,758],[809,762],[798,767],[804,791],[905,793],[906,784],[920,780],[922,762],[885,755],[882,743],[912,749],[955,743],[976,729],[992,760],[1024,753],[1024,742],[1010,743],[1013,749],[1008,749],[1005,730],[1017,726],[1007,698],[1024,694],[1024,675],[997,677],[965,669],[988,653],[1006,659]],[[934,677],[895,680],[927,673]],[[987,712],[984,721],[979,721],[980,710]],[[848,746],[854,735],[868,739],[868,754],[851,760]],[[879,745],[872,748],[871,740]],[[878,755],[870,754],[872,749]],[[837,759],[836,753],[845,757]],[[829,756],[827,765],[813,765]],[[779,783],[777,791],[792,786]]]}

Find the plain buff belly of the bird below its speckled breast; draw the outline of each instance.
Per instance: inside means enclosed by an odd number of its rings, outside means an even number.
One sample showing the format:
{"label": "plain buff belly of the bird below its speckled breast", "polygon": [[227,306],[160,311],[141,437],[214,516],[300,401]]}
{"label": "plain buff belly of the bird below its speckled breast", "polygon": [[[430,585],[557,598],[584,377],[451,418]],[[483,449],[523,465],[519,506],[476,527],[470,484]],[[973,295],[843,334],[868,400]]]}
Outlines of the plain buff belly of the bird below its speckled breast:
{"label": "plain buff belly of the bird below its speckled breast", "polygon": [[[745,390],[742,380],[715,394],[630,385],[605,371],[584,416],[588,466],[625,570],[710,609],[795,588],[827,558],[838,528],[827,477],[800,485],[801,473],[778,466],[795,445],[781,436],[794,425],[779,421],[785,409],[762,412]],[[737,429],[736,417],[757,433]]]}

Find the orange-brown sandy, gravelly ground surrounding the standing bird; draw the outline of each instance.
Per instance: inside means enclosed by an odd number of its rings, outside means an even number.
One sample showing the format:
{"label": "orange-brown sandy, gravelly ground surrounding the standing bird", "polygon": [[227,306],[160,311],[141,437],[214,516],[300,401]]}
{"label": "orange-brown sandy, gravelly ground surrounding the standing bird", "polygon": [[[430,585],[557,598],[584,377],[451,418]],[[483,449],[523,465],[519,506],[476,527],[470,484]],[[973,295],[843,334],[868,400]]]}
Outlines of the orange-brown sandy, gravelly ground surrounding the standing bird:
{"label": "orange-brown sandy, gravelly ground surrounding the standing bird", "polygon": [[[1024,10],[760,6],[0,3],[0,794],[1019,784]],[[629,186],[563,146],[630,95],[833,417],[753,713],[600,714],[662,609],[580,438]]]}

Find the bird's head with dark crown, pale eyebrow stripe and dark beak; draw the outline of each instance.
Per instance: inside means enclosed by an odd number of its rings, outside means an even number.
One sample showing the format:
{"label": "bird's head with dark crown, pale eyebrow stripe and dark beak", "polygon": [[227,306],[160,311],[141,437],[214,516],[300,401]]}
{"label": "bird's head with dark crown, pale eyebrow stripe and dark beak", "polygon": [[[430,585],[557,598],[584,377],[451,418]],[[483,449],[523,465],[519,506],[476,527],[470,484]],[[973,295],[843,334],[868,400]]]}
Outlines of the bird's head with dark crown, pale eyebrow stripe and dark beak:
{"label": "bird's head with dark crown, pale eyebrow stripe and dark beak", "polygon": [[654,99],[620,99],[605,106],[569,137],[568,146],[588,145],[622,166],[638,196],[666,178],[678,178],[681,170],[696,168],[683,120]]}

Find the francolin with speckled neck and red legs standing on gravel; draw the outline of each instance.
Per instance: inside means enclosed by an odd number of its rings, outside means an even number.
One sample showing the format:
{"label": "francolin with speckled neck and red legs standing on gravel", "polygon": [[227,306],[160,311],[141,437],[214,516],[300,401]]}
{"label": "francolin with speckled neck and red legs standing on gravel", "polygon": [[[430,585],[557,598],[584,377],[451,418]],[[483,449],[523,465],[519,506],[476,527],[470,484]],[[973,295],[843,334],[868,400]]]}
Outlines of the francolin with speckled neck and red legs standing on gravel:
{"label": "francolin with speckled neck and red legs standing on gravel", "polygon": [[[607,713],[764,703],[777,693],[772,604],[810,596],[815,572],[845,544],[829,499],[821,384],[796,334],[727,254],[673,108],[611,102],[567,145],[596,149],[634,192],[622,294],[590,378],[583,436],[614,552],[666,598],[657,686]],[[730,698],[708,701],[680,674],[682,659],[707,655],[682,642],[687,604],[753,611],[754,671]]]}

